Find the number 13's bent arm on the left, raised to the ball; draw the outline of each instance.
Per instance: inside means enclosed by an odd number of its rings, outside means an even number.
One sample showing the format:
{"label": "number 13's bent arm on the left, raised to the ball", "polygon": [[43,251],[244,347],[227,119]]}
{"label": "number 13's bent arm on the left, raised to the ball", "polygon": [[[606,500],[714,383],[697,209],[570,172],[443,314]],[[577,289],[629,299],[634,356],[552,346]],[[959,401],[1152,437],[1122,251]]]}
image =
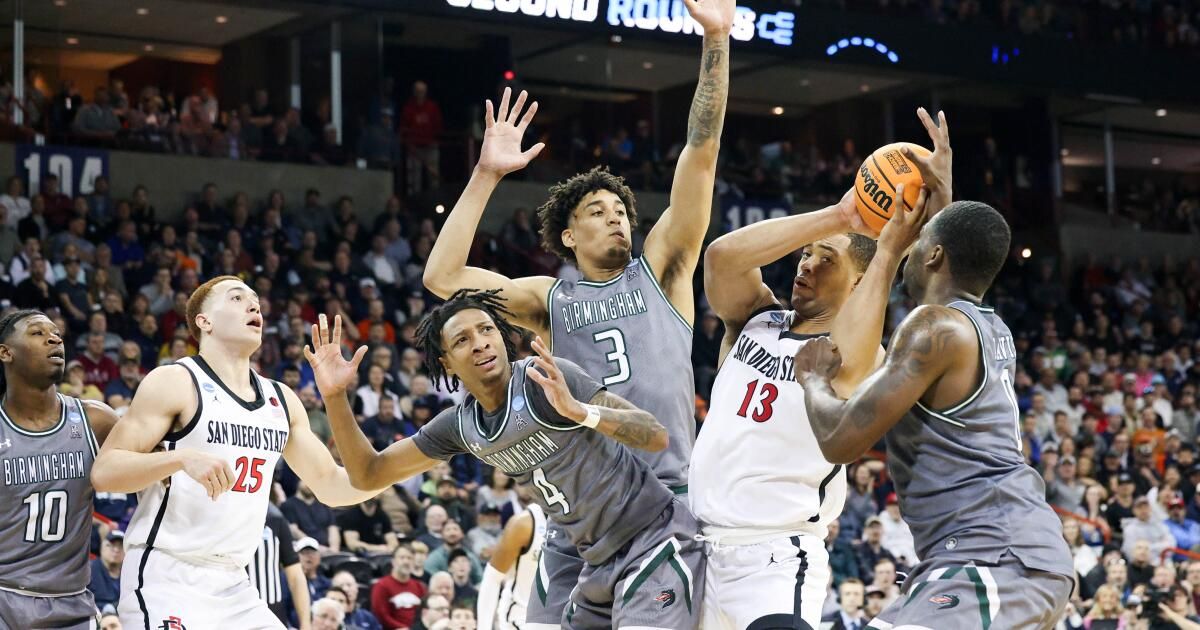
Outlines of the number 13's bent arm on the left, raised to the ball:
{"label": "number 13's bent arm on the left, raised to the ball", "polygon": [[704,296],[725,323],[721,361],[746,319],[755,311],[778,304],[770,288],[763,283],[760,268],[806,244],[846,232],[868,232],[854,209],[854,191],[847,191],[836,205],[804,215],[760,221],[708,245],[704,251]]}

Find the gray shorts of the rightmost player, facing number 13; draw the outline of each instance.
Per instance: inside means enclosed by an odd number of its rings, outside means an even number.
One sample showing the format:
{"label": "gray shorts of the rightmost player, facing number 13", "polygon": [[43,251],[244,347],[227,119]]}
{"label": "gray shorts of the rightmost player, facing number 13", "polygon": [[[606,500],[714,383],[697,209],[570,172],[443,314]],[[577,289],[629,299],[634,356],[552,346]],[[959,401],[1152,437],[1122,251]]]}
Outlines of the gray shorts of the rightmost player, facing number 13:
{"label": "gray shorts of the rightmost player, facing number 13", "polygon": [[1012,553],[1000,564],[922,566],[866,626],[874,630],[1050,630],[1070,600],[1072,580],[1026,569]]}

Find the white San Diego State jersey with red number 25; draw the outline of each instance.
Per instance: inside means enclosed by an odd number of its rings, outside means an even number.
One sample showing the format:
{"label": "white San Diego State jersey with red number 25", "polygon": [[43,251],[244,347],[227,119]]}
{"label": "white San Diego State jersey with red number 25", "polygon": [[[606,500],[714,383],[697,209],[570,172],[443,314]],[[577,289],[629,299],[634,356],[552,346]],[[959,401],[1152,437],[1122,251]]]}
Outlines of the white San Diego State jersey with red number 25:
{"label": "white San Diego State jersey with red number 25", "polygon": [[180,470],[138,493],[126,550],[146,547],[197,564],[245,568],[263,538],[275,464],[288,443],[287,402],[278,383],[251,371],[256,397],[238,397],[200,356],[180,359],[198,396],[196,414],[168,433],[166,450],[223,457],[234,486],[216,502]]}

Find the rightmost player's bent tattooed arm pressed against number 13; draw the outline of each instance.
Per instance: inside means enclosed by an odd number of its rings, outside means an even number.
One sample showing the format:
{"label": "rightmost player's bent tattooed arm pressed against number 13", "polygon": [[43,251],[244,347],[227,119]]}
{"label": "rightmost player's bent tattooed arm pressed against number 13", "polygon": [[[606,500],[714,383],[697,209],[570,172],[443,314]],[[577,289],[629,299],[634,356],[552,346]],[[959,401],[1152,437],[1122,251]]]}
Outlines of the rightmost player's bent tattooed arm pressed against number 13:
{"label": "rightmost player's bent tattooed arm pressed against number 13", "polygon": [[976,331],[944,306],[925,305],[893,335],[883,366],[850,400],[838,398],[830,378],[841,358],[829,338],[811,340],[796,354],[796,380],[821,452],[851,463],[866,452],[949,370],[978,362]]}

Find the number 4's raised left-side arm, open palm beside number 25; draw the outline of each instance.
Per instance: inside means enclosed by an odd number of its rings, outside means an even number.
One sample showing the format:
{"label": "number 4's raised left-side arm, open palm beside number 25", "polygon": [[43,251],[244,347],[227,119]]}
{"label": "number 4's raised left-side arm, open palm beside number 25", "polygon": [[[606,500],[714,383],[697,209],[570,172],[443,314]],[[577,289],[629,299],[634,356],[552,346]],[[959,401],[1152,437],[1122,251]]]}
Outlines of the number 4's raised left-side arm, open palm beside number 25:
{"label": "number 4's raised left-side arm, open palm beside number 25", "polygon": [[[320,390],[320,395],[325,400],[325,413],[329,415],[329,425],[334,430],[334,440],[337,443],[337,449],[342,455],[342,463],[346,464],[346,468],[343,469],[334,463],[329,450],[320,444],[320,440],[312,436],[311,430],[308,430],[308,436],[313,443],[325,451],[324,456],[320,457],[322,460],[328,457],[329,466],[332,466],[337,470],[344,470],[344,473],[340,474],[348,475],[349,482],[355,488],[366,488],[365,491],[358,491],[359,498],[349,502],[360,503],[365,498],[376,496],[378,493],[377,488],[383,488],[396,481],[403,481],[413,475],[421,474],[433,468],[438,462],[437,460],[426,457],[413,444],[412,438],[406,438],[388,446],[382,454],[376,451],[374,446],[371,445],[371,440],[367,439],[358,422],[354,421],[354,410],[350,408],[349,398],[346,397],[346,388],[349,385],[350,377],[358,370],[359,362],[366,354],[366,347],[359,348],[350,361],[343,359],[340,336],[341,326],[341,318],[335,317],[334,332],[330,335],[329,319],[322,314],[320,324],[312,326],[313,347],[305,347],[304,354],[312,365],[313,377],[317,379],[317,389]],[[295,397],[295,395],[293,394],[292,397]],[[300,408],[302,410],[304,406],[301,404]],[[307,416],[305,415],[304,418]],[[307,427],[307,422],[302,424]],[[288,449],[290,448],[292,439],[288,439]],[[308,448],[304,448],[304,450],[307,451]],[[300,467],[307,467],[310,463],[300,462],[299,458],[293,460],[288,451],[284,451],[283,456],[287,458],[288,464],[296,470],[296,474],[312,487],[317,498],[322,503],[328,503],[322,497],[320,491],[300,470]],[[300,457],[304,457],[304,455],[301,454]],[[293,461],[296,463],[293,463]],[[324,474],[329,474],[324,461],[319,466],[325,472]],[[311,474],[320,476],[322,472],[314,470]]]}

